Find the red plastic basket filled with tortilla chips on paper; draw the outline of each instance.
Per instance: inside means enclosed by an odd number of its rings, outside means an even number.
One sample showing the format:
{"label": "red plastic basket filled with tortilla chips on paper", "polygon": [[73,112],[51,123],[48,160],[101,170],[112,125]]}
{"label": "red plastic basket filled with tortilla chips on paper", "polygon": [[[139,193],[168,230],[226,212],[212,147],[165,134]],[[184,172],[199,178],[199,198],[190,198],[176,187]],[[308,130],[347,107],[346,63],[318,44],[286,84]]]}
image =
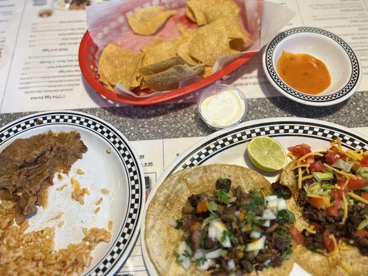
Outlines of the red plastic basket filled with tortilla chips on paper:
{"label": "red plastic basket filled with tortilla chips on paper", "polygon": [[245,19],[244,1],[237,0],[101,3],[87,10],[79,66],[101,95],[162,103],[208,86],[258,52]]}

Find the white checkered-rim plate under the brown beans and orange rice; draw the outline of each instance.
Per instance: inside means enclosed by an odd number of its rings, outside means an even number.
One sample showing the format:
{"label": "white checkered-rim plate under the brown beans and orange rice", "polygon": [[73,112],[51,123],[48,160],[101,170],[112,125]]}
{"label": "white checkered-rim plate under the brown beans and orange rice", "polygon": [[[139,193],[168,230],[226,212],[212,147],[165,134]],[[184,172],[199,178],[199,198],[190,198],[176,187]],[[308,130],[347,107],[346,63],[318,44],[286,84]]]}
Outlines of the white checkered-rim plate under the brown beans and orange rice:
{"label": "white checkered-rim plate under the brown beans and orange rice", "polygon": [[[0,129],[0,151],[12,141],[47,132],[77,131],[88,147],[82,159],[71,168],[64,179],[54,178],[49,188],[48,206],[38,208],[30,217],[28,230],[55,227],[55,249],[79,243],[84,237],[82,227],[106,228],[113,221],[111,239],[100,243],[93,251],[93,260],[84,275],[114,275],[124,264],[139,235],[146,190],[144,174],[137,154],[117,128],[95,116],[75,111],[41,112],[13,121]],[[110,150],[109,150],[110,149]],[[84,170],[78,175],[76,170]],[[88,188],[81,205],[71,199],[70,177],[77,179],[81,188]],[[66,185],[62,190],[57,190]],[[102,189],[108,194],[102,193]],[[103,201],[97,208],[99,197]],[[61,219],[50,219],[60,211]],[[64,221],[59,228],[60,221]]]}

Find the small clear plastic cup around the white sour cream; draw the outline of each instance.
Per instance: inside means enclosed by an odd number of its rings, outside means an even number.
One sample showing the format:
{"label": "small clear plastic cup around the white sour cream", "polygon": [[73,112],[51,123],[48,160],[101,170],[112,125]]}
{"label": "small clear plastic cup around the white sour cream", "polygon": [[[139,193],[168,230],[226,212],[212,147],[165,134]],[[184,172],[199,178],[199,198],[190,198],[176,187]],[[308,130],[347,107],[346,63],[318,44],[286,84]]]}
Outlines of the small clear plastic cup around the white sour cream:
{"label": "small clear plastic cup around the white sour cream", "polygon": [[[206,114],[204,114],[204,111],[202,110],[202,103],[204,102],[205,99],[209,97],[220,95],[222,92],[229,91],[229,90],[235,91],[240,97],[240,99],[244,101],[244,113],[238,119],[236,119],[235,121],[232,121],[231,124],[226,124],[224,126],[213,124],[211,119],[207,118]],[[200,115],[201,119],[204,121],[204,124],[206,124],[207,126],[209,126],[209,128],[213,130],[222,130],[224,128],[232,128],[233,126],[237,126],[244,120],[244,118],[246,117],[246,114],[248,113],[248,110],[249,110],[248,101],[246,100],[246,97],[243,95],[242,91],[240,91],[235,86],[228,86],[226,84],[216,84],[214,86],[211,86],[207,90],[204,90],[204,92],[202,92],[202,95],[200,95],[200,97],[197,99],[198,114]],[[228,114],[230,114],[230,112]]]}

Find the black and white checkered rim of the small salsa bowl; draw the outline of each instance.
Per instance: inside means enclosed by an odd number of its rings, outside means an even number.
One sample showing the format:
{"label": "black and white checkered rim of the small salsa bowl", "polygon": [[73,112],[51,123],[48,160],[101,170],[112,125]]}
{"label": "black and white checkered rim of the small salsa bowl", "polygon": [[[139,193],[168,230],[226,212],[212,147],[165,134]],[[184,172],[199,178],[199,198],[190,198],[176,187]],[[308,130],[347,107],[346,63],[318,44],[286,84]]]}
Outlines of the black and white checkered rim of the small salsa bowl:
{"label": "black and white checkered rim of the small salsa bowl", "polygon": [[[275,67],[273,66],[273,52],[278,45],[278,43],[284,39],[285,37],[289,37],[291,34],[296,34],[298,32],[313,32],[316,34],[322,34],[325,37],[329,37],[330,39],[333,39],[333,41],[336,41],[344,50],[347,52],[347,55],[349,56],[350,62],[351,62],[351,76],[349,79],[349,82],[345,85],[344,88],[341,90],[331,94],[331,95],[306,95],[301,92],[298,92],[297,90],[294,90],[290,86],[287,85],[287,83],[284,83],[280,77],[278,77],[278,73],[275,70]],[[327,101],[335,101],[336,99],[340,99],[347,95],[349,92],[353,90],[353,88],[357,85],[360,75],[360,69],[359,69],[359,61],[354,54],[353,50],[351,50],[350,46],[347,45],[345,41],[343,41],[340,37],[338,37],[336,34],[333,34],[331,32],[327,32],[327,30],[321,30],[318,28],[310,28],[310,27],[302,27],[302,28],[293,28],[291,30],[287,30],[286,32],[282,32],[277,37],[275,37],[271,43],[269,43],[269,46],[266,50],[266,64],[267,64],[267,71],[269,72],[269,75],[275,81],[275,83],[284,91],[287,92],[289,95],[297,97],[298,99],[302,99],[304,101],[316,101],[316,102],[327,102]]]}

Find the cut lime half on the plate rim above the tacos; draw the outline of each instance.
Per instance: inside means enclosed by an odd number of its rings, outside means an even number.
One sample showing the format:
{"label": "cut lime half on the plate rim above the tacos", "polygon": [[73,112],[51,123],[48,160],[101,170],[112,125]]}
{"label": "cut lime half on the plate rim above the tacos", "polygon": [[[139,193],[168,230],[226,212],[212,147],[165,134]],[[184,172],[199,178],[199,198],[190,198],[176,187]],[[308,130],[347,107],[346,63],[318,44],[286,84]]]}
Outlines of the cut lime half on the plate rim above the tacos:
{"label": "cut lime half on the plate rim above the tacos", "polygon": [[275,172],[287,165],[284,148],[271,137],[255,137],[249,143],[247,150],[253,165],[261,170]]}

